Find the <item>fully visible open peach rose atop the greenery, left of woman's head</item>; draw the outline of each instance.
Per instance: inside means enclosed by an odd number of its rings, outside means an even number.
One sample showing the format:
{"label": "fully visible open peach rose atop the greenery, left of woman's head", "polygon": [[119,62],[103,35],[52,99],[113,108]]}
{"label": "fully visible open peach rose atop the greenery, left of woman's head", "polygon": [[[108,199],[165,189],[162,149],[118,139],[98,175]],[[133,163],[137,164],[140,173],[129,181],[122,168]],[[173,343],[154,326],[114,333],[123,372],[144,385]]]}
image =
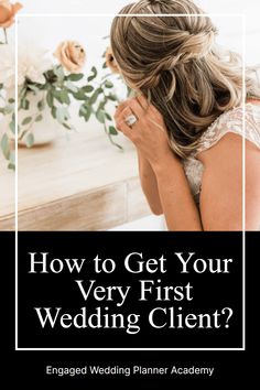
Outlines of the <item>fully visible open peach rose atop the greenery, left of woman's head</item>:
{"label": "fully visible open peach rose atop the greenery, left of woman's head", "polygon": [[86,62],[86,52],[76,41],[62,42],[54,56],[71,73],[79,73]]}

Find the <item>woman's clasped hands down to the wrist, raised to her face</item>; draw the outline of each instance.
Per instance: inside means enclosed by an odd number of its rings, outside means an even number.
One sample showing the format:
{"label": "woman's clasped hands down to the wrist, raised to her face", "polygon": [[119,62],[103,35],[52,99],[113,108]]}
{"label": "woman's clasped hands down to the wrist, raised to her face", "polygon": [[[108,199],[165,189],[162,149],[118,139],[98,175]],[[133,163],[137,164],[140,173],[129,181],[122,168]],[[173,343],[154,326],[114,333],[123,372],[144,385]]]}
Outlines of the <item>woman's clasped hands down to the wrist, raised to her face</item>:
{"label": "woman's clasped hands down to the wrist, raised to her face", "polygon": [[[126,119],[131,115],[138,120],[130,127]],[[133,142],[152,166],[174,159],[163,118],[143,96],[122,102],[117,108],[115,121],[117,129]]]}

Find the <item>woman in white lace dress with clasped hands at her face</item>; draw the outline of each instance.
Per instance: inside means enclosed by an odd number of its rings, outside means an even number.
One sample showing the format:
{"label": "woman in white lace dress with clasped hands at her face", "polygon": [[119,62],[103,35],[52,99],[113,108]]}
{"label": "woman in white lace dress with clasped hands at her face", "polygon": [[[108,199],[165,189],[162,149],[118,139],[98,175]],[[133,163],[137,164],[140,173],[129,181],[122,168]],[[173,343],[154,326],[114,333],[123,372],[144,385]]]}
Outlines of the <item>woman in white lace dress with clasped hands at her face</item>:
{"label": "woman in white lace dress with clasped hands at her face", "polygon": [[219,50],[210,19],[189,0],[141,0],[120,13],[111,48],[137,97],[115,121],[137,148],[152,212],[164,214],[170,230],[242,230],[245,106],[245,221],[260,229],[257,71],[247,71],[243,94],[238,56]]}

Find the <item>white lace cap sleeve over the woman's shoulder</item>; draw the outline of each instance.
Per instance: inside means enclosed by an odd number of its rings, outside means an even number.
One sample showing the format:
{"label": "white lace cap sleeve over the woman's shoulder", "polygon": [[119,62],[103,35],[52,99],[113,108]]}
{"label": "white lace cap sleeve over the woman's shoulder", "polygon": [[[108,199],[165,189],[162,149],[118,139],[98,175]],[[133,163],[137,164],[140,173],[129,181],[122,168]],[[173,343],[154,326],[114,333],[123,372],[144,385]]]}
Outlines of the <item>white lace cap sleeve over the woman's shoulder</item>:
{"label": "white lace cap sleeve over the woman's shoulder", "polygon": [[260,106],[247,104],[245,110],[236,107],[221,116],[203,133],[196,154],[215,145],[225,134],[232,132],[251,141],[260,149]]}

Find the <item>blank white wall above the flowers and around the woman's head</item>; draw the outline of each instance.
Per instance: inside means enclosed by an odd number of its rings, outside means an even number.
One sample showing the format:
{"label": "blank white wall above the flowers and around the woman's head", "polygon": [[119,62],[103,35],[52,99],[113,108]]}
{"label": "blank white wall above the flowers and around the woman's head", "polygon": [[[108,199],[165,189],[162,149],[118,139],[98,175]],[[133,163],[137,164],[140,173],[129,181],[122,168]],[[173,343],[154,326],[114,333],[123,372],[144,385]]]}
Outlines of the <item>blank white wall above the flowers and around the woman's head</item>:
{"label": "blank white wall above the flowers and around the woman's head", "polygon": [[[260,63],[260,1],[259,0],[196,0],[208,13],[247,14],[247,63]],[[75,39],[86,46],[87,65],[100,61],[107,42],[111,18],[73,18],[72,13],[117,13],[129,0],[23,0],[22,13],[67,13],[67,18],[20,19],[19,36],[34,40],[54,51],[59,41]],[[241,53],[242,24],[236,17],[213,18],[219,29],[219,42]]]}

